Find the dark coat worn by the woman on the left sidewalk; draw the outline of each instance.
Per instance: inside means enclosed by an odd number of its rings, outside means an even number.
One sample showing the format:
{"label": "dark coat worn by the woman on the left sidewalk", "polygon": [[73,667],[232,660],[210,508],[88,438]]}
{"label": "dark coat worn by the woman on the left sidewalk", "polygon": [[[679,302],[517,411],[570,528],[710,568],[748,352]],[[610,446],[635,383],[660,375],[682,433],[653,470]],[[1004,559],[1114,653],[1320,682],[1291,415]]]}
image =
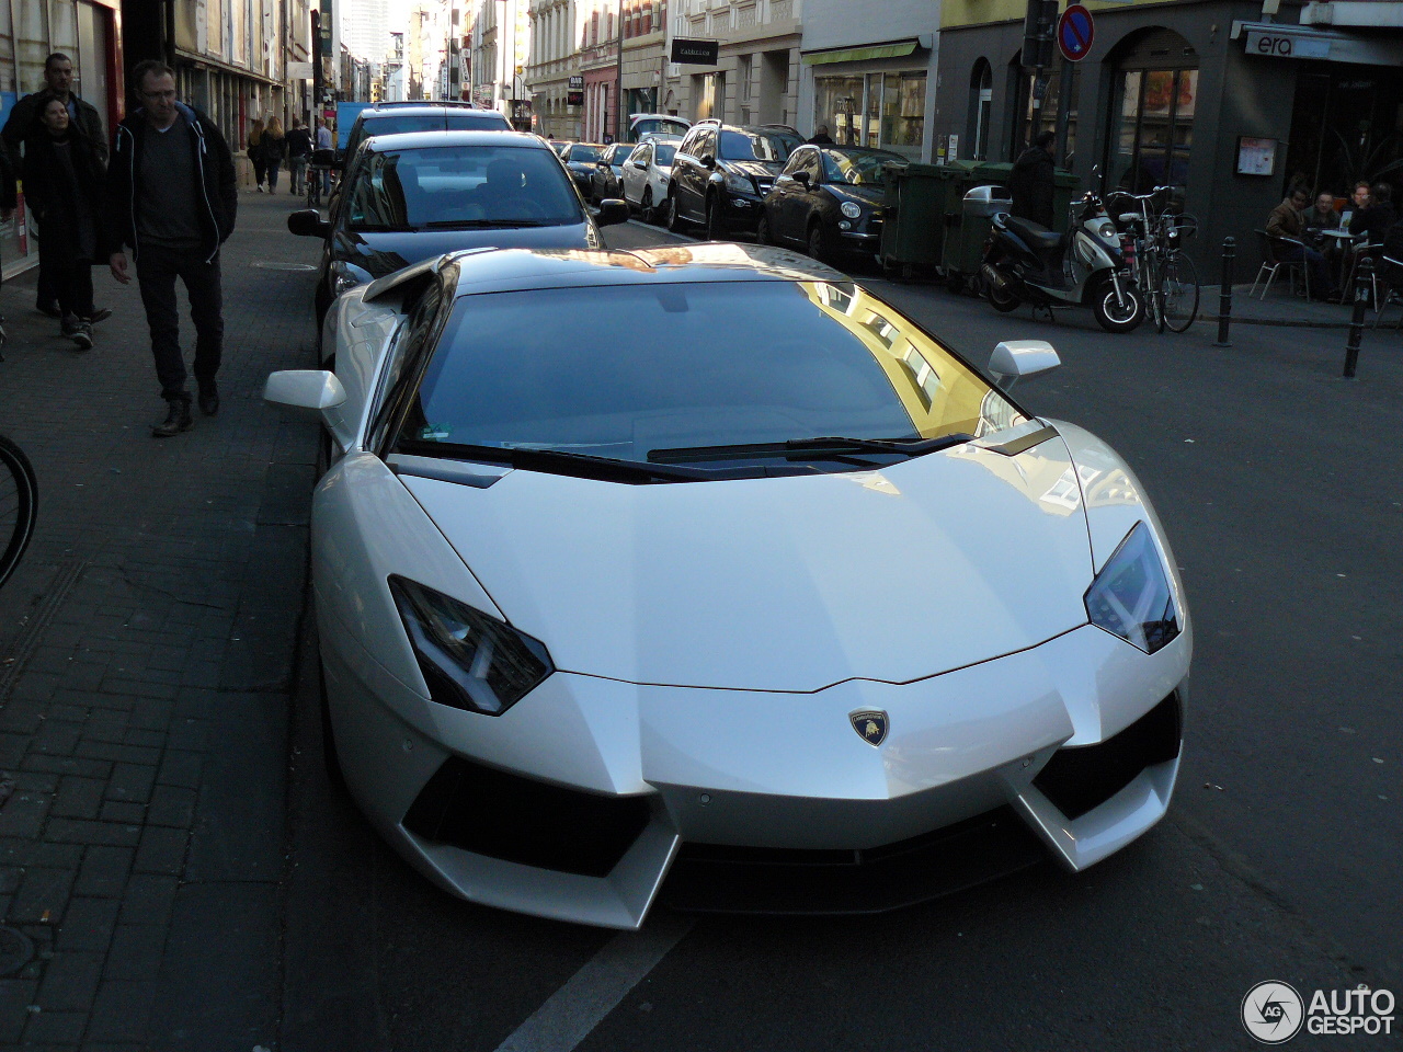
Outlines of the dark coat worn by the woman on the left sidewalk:
{"label": "dark coat worn by the woman on the left sidewalk", "polygon": [[101,216],[107,166],[97,144],[73,125],[67,142],[70,164],[62,163],[59,147],[42,125],[25,140],[24,199],[39,222],[46,259],[62,267],[105,261]]}

